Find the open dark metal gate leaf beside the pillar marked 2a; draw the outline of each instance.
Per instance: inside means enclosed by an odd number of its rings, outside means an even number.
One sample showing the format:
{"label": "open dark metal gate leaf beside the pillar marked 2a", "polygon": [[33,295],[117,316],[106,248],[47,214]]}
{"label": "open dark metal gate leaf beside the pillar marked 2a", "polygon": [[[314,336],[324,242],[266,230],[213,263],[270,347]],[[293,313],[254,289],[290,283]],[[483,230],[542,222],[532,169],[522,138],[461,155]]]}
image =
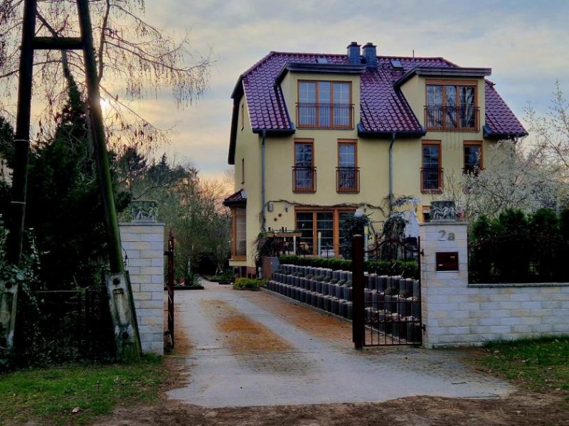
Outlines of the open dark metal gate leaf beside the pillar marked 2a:
{"label": "open dark metal gate leaf beside the pillar marked 2a", "polygon": [[[356,238],[358,237],[358,238]],[[420,241],[384,240],[374,255],[381,273],[363,273],[363,239],[354,237],[353,342],[363,346],[422,343]],[[368,266],[373,265],[368,263]],[[387,275],[387,271],[393,274]],[[357,275],[357,278],[356,278]]]}

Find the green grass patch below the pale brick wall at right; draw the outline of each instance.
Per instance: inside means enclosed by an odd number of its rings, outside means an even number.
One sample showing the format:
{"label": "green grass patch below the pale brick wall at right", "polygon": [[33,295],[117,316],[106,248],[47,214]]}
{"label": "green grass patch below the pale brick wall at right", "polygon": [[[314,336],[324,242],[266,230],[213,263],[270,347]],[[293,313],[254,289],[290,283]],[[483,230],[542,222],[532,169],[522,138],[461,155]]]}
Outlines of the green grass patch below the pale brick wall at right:
{"label": "green grass patch below the pale brick wall at right", "polygon": [[479,361],[536,392],[569,391],[569,336],[491,342]]}

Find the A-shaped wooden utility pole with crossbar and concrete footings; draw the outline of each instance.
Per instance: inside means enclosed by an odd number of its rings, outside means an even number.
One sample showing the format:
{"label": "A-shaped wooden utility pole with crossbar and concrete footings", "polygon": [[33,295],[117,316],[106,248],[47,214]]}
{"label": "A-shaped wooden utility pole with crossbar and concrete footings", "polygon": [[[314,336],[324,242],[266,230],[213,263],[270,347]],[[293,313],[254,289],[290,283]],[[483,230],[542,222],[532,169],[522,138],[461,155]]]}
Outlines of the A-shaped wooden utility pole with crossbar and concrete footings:
{"label": "A-shaped wooden utility pole with crossbar and concrete footings", "polygon": [[[16,164],[11,202],[11,233],[9,241],[9,258],[18,264],[21,258],[23,241],[23,224],[26,214],[26,186],[29,152],[29,128],[31,111],[31,87],[33,76],[33,51],[46,50],[83,50],[85,78],[89,100],[90,132],[95,153],[95,164],[103,207],[105,209],[105,225],[107,229],[107,244],[111,273],[106,277],[107,293],[115,329],[117,356],[124,361],[140,358],[141,347],[138,334],[137,317],[134,310],[130,278],[124,271],[120,244],[119,226],[115,199],[112,191],[107,147],[105,146],[105,129],[102,122],[100,106],[99,79],[92,38],[92,25],[88,0],[77,0],[80,25],[80,38],[36,37],[36,0],[24,0],[23,33],[20,59],[20,75],[18,87],[18,116],[16,123]],[[4,299],[4,286],[0,287],[2,299],[1,325],[11,324],[14,332],[16,317],[17,288],[10,289],[13,293],[9,299]],[[7,295],[6,297],[8,297]],[[4,306],[11,302],[13,307],[9,317],[6,317]],[[13,301],[13,302],[12,302]],[[8,318],[8,320],[6,320]],[[6,322],[6,324],[5,324]],[[11,341],[6,339],[6,344]]]}

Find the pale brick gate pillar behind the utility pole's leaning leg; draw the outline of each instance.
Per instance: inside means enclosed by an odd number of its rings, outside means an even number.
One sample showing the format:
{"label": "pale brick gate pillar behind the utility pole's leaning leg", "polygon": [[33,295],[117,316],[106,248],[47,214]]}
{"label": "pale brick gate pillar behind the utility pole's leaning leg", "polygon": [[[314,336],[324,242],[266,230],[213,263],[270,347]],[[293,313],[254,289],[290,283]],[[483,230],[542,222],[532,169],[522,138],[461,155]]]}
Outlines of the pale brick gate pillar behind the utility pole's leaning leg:
{"label": "pale brick gate pillar behind the utility pole's leaning leg", "polygon": [[144,353],[164,354],[164,224],[119,224]]}

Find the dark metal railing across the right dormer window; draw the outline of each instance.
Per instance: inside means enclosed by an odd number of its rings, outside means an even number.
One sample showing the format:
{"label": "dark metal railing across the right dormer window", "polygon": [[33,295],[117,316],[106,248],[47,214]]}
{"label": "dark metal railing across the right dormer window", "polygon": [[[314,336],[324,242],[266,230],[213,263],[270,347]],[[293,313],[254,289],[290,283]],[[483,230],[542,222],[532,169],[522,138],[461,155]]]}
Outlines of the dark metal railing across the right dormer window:
{"label": "dark metal railing across the right dormer window", "polygon": [[479,131],[480,107],[425,107],[427,130]]}

